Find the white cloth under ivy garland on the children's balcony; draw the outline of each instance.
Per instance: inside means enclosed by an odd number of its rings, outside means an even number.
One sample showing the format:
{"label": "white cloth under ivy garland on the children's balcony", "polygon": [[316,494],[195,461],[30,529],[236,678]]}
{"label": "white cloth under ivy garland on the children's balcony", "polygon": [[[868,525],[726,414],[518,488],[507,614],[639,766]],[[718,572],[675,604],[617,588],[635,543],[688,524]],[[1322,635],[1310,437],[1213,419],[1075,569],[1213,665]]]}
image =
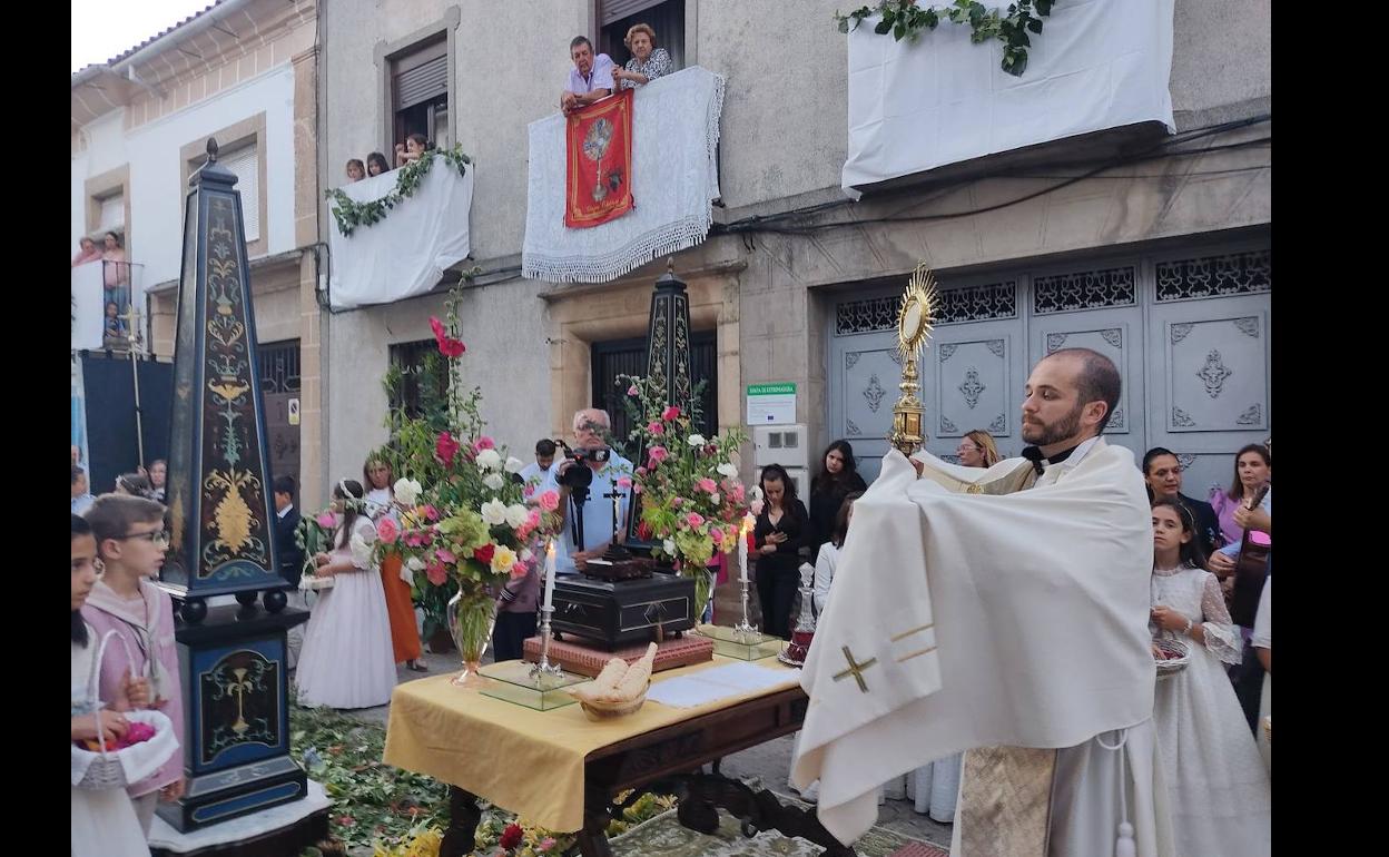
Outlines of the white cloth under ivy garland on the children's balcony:
{"label": "white cloth under ivy garland on the children's balcony", "polygon": [[[425,294],[438,285],[444,269],[468,257],[468,211],[472,208],[472,171],[458,171],[435,156],[415,194],[399,203],[369,226],[357,226],[350,236],[338,231],[329,214],[328,247],[332,250],[329,304],[350,310],[368,304],[393,303]],[[340,190],[357,203],[379,200],[396,188],[399,169],[343,185]],[[333,203],[329,201],[329,208]]]}

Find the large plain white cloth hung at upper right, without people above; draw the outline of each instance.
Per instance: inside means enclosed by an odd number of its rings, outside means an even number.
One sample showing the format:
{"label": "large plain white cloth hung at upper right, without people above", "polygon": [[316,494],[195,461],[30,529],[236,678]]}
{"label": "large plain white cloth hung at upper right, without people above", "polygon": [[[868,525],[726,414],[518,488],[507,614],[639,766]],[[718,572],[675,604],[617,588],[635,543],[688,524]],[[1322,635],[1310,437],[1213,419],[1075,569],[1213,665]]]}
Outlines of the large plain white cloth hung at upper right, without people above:
{"label": "large plain white cloth hung at upper right, without people above", "polygon": [[897,42],[874,33],[878,15],[864,19],[847,36],[845,193],[858,199],[864,185],[1106,128],[1156,121],[1174,133],[1174,7],[1057,3],[1022,76],[1000,68],[997,40],[972,44],[968,26],[942,22]]}

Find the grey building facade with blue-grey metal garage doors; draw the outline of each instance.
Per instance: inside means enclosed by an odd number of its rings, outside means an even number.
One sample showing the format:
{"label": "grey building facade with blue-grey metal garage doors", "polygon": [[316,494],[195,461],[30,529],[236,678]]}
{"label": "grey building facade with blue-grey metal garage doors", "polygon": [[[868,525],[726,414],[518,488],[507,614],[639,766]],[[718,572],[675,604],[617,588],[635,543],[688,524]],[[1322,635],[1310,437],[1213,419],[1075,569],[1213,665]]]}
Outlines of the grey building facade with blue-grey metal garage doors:
{"label": "grey building facade with blue-grey metal garage doors", "polygon": [[[849,81],[835,11],[829,0],[324,3],[319,182],[340,183],[349,158],[389,154],[411,131],[463,144],[482,269],[460,307],[465,381],[483,388],[483,414],[514,450],[567,436],[575,410],[604,403],[606,357],[644,333],[664,260],[601,285],[522,279],[526,124],[556,111],[572,36],[621,61],[626,26],[647,21],[679,65],[728,82],[715,226],[675,257],[693,326],[713,340],[720,424],[745,421],[747,385],[790,382],[810,465],[846,438],[875,474],[900,376],[893,297],[925,261],[942,289],[922,363],[932,451],[949,456],[985,428],[1017,454],[1028,368],[1086,344],[1124,372],[1115,442],[1176,451],[1189,494],[1228,482],[1231,453],[1271,433],[1267,0],[1176,0],[1176,135],[1056,140],[886,182],[856,203],[840,189]],[[329,317],[333,476],[385,440],[379,379],[429,339],[442,304],[433,293]]]}

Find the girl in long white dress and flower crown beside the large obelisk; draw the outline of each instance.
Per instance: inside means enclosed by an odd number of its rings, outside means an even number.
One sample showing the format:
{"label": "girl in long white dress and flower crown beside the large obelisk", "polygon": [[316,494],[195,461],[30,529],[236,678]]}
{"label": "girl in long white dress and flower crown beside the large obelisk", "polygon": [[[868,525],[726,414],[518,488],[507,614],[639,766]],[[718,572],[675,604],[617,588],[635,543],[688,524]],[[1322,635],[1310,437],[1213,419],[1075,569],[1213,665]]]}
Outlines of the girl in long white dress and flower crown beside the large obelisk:
{"label": "girl in long white dress and flower crown beside the large obelisk", "polygon": [[318,575],[333,586],[319,590],[304,628],[294,683],[304,706],[369,708],[390,701],[396,664],[390,649],[390,618],[381,574],[371,563],[376,531],[361,513],[361,482],[343,479],[333,488],[338,528],[333,551],[314,557]]}

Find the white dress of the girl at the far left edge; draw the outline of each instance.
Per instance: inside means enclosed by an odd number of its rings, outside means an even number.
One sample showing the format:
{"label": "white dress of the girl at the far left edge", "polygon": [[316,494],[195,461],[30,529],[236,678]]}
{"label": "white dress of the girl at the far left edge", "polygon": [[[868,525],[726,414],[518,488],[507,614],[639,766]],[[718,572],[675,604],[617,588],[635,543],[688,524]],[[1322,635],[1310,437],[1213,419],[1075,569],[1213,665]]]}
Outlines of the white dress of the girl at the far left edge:
{"label": "white dress of the girl at the far left edge", "polygon": [[[97,644],[90,625],[88,644],[72,643],[72,717],[94,710],[89,696]],[[100,792],[72,786],[72,857],[149,857],[149,853],[124,786]]]}

